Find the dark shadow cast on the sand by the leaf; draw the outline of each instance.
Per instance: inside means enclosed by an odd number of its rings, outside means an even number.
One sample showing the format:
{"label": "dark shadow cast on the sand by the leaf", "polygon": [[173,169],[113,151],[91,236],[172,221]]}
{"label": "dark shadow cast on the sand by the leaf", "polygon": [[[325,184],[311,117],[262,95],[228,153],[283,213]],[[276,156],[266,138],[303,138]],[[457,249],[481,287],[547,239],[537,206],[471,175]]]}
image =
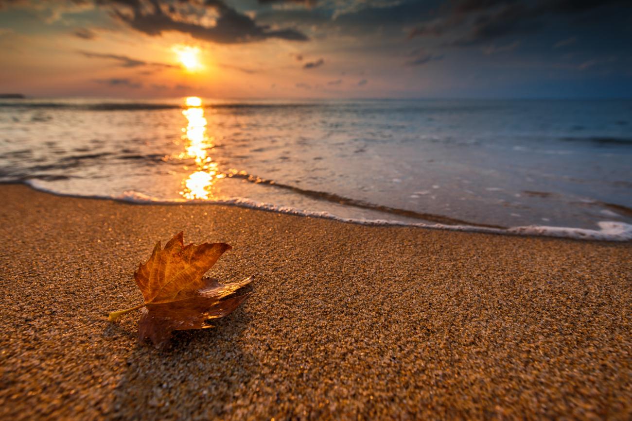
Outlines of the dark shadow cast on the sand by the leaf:
{"label": "dark shadow cast on the sand by the leaf", "polygon": [[240,308],[214,321],[214,328],[174,332],[169,350],[139,344],[114,389],[114,418],[226,417],[242,386],[234,379],[250,379],[248,367],[257,366],[240,345],[249,321]]}

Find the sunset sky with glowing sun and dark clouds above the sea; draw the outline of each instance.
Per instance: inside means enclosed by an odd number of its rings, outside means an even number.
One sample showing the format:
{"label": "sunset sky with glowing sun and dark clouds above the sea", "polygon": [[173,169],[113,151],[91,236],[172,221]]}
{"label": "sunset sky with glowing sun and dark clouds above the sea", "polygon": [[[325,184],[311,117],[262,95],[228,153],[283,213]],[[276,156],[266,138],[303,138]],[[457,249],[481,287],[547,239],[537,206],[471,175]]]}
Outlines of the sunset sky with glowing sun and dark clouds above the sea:
{"label": "sunset sky with glowing sun and dark clouds above the sea", "polygon": [[0,0],[0,93],[630,98],[618,0]]}

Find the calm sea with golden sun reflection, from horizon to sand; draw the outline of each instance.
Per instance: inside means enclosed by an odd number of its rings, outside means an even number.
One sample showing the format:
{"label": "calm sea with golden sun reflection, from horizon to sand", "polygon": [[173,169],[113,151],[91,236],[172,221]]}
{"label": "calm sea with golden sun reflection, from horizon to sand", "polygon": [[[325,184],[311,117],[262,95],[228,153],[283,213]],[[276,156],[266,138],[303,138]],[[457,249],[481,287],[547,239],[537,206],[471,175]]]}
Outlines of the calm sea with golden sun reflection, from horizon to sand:
{"label": "calm sea with golden sun reflection, from horizon to sand", "polygon": [[0,181],[632,239],[631,100],[0,100]]}

